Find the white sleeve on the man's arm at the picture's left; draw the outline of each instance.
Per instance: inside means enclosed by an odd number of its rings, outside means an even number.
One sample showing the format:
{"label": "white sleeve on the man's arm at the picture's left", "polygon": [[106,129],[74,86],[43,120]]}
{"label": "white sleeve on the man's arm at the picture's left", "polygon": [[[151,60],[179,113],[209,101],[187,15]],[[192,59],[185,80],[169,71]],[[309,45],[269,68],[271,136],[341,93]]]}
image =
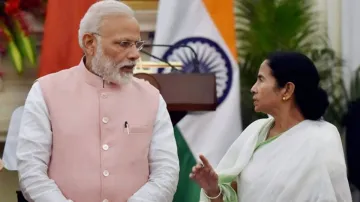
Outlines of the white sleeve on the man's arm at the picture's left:
{"label": "white sleeve on the man's arm at the picture's left", "polygon": [[49,113],[36,82],[25,102],[16,151],[20,189],[28,201],[67,201],[47,175],[51,146]]}

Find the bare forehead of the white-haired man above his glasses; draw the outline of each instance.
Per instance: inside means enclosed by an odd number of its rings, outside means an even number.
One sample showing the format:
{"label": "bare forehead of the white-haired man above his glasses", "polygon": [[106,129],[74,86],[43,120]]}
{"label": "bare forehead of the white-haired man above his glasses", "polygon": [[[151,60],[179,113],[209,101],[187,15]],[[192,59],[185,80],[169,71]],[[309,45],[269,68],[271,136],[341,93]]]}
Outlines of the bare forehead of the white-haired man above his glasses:
{"label": "bare forehead of the white-haired man above his glasses", "polygon": [[100,34],[109,39],[140,40],[138,21],[129,15],[108,15],[102,19]]}

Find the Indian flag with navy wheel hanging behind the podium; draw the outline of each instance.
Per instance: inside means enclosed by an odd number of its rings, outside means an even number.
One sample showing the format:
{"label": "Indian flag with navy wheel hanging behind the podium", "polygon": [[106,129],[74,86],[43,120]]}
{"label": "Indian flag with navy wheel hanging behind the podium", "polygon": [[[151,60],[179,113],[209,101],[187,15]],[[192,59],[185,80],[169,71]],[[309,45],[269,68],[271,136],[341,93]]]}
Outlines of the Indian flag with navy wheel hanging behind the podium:
{"label": "Indian flag with navy wheel hanging behind the podium", "polygon": [[[188,113],[175,127],[180,181],[174,201],[199,201],[200,188],[189,179],[199,154],[214,167],[240,135],[240,85],[236,62],[235,20],[232,0],[160,0],[152,54],[181,61],[184,70],[216,75],[216,111]],[[194,68],[191,46],[198,54]],[[160,71],[162,73],[167,73]]]}

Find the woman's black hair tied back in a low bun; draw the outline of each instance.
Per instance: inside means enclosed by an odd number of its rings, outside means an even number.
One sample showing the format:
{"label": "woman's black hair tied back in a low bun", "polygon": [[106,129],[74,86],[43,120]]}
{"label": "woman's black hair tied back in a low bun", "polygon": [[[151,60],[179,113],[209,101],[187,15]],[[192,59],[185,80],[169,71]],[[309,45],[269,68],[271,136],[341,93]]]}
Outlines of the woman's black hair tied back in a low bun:
{"label": "woman's black hair tied back in a low bun", "polygon": [[267,57],[278,87],[295,85],[295,102],[305,119],[320,119],[329,106],[327,93],[319,86],[320,76],[314,63],[299,52],[277,51]]}

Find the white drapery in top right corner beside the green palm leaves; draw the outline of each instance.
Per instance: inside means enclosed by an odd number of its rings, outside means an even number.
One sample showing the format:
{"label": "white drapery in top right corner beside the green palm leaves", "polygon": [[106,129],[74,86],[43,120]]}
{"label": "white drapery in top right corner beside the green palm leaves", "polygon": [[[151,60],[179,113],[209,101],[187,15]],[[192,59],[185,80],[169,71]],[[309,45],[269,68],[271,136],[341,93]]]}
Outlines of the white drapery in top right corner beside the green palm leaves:
{"label": "white drapery in top right corner beside the green palm leaves", "polygon": [[343,76],[346,86],[353,71],[360,66],[360,1],[313,0],[321,11],[320,21],[328,32],[331,47],[344,59]]}

